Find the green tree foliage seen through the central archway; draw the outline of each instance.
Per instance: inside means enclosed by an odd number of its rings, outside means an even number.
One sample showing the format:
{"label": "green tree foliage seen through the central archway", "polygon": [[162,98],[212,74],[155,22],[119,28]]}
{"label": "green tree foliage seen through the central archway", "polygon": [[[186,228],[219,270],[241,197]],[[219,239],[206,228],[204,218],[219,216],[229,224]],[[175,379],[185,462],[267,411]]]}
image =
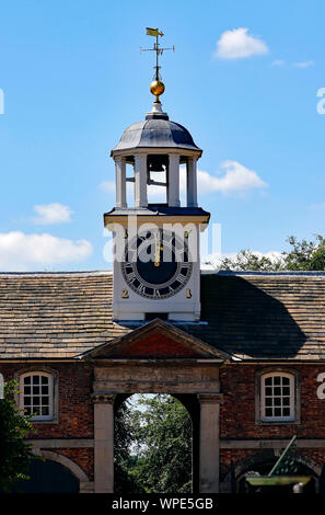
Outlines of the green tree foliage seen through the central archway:
{"label": "green tree foliage seen through the central archway", "polygon": [[[173,397],[159,394],[140,396],[136,407],[129,403],[124,410],[128,424],[128,456],[120,449],[117,465],[121,465],[134,485],[128,482],[116,484],[117,491],[190,492],[191,421],[186,409]],[[121,444],[120,435],[116,435],[116,442],[117,451]]]}

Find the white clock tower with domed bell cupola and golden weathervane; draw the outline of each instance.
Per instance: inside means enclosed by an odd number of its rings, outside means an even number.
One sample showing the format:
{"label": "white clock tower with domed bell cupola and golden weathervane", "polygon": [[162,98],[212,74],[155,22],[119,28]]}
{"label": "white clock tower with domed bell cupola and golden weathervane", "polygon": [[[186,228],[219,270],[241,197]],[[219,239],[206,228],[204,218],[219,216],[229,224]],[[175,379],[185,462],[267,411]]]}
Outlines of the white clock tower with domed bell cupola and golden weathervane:
{"label": "white clock tower with domed bell cupola and golden weathervane", "polygon": [[164,84],[158,66],[162,33],[148,31],[156,36],[150,85],[155,101],[146,119],[130,125],[111,152],[116,206],[104,215],[104,225],[114,239],[113,317],[198,321],[199,234],[210,217],[197,204],[197,161],[202,151],[189,131],[162,111]]}

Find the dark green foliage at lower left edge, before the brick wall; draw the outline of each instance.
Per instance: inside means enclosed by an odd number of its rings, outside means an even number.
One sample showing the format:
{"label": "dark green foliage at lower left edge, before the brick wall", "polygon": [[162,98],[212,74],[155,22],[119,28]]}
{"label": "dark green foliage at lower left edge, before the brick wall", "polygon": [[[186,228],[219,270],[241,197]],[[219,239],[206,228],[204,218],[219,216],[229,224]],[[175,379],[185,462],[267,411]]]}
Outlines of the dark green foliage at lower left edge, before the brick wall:
{"label": "dark green foliage at lower left edge, before the brick wall", "polygon": [[16,407],[16,381],[7,382],[4,399],[0,400],[0,489],[3,492],[14,490],[16,481],[30,479],[30,464],[35,459],[32,446],[23,439],[33,425]]}

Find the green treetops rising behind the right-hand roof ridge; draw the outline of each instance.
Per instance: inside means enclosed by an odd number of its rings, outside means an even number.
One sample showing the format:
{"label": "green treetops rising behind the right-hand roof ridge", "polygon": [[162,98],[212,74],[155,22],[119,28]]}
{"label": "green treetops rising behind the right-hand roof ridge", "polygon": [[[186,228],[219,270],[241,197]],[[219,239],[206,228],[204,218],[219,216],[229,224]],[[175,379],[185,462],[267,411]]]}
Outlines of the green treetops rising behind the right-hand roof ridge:
{"label": "green treetops rising behind the right-hand roof ridge", "polygon": [[280,256],[270,259],[260,256],[251,250],[242,250],[234,259],[224,258],[220,270],[281,272],[281,271],[324,271],[325,239],[317,234],[314,240],[301,240],[294,236],[287,239],[291,249]]}

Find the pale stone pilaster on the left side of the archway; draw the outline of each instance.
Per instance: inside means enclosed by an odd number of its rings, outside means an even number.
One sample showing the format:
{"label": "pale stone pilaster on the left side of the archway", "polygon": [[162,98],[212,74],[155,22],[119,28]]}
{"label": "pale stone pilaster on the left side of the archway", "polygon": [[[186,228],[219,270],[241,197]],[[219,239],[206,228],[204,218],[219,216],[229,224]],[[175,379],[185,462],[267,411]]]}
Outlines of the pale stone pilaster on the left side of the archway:
{"label": "pale stone pilaster on the left side of the archway", "polygon": [[114,394],[94,394],[95,493],[114,492]]}

